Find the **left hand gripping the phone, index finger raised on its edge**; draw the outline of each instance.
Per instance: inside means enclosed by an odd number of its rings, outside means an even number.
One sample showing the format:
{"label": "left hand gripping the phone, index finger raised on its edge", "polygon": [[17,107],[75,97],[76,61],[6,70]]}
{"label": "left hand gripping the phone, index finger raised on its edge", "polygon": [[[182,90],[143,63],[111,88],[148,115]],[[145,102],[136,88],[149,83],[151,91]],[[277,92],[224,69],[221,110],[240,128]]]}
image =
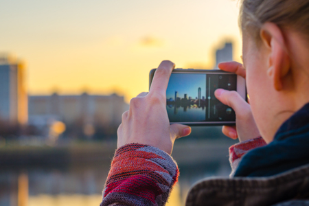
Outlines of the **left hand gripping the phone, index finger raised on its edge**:
{"label": "left hand gripping the phone, index finger raised on its edge", "polygon": [[149,93],[140,93],[130,100],[129,111],[122,115],[117,130],[117,148],[130,143],[147,144],[172,154],[174,141],[190,135],[190,126],[172,124],[166,111],[166,89],[173,62],[161,62],[155,71]]}

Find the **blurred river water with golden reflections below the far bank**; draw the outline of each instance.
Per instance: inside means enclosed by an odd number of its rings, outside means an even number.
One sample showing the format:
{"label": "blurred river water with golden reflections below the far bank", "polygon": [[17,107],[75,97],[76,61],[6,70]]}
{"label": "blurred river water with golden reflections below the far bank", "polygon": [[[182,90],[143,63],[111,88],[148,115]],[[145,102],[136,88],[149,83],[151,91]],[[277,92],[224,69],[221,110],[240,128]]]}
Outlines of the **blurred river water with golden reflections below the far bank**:
{"label": "blurred river water with golden reflections below the far bank", "polygon": [[[224,150],[227,148],[219,146]],[[227,154],[220,148],[176,146],[174,158],[179,163],[181,176],[172,190],[168,206],[184,205],[187,192],[196,181],[207,176],[229,175]],[[197,156],[200,157],[198,161]],[[87,165],[45,165],[27,170],[3,169],[0,171],[0,205],[98,206],[109,168],[110,161]]]}

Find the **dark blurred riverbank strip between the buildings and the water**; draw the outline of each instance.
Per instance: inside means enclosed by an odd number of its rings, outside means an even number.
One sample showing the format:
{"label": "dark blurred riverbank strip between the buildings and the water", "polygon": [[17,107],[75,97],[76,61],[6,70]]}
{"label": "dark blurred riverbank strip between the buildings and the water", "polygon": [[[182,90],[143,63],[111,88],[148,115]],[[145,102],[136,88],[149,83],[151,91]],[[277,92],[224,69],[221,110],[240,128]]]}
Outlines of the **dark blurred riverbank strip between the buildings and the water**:
{"label": "dark blurred riverbank strip between the buildings and the water", "polygon": [[[200,140],[176,141],[172,156],[178,163],[192,161],[226,161],[233,141]],[[70,146],[12,146],[0,149],[0,165],[66,165],[72,163],[110,163],[116,142],[78,143]]]}

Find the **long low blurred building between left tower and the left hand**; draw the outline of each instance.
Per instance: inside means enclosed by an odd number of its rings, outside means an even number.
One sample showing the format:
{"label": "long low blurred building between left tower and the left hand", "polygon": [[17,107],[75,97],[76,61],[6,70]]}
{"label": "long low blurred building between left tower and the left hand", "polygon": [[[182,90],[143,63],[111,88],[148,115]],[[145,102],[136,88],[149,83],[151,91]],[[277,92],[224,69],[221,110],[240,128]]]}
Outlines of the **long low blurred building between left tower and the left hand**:
{"label": "long low blurred building between left tower and the left hand", "polygon": [[[119,125],[128,110],[124,97],[113,95],[32,95],[29,97],[30,124],[47,122],[49,118],[74,124]],[[40,120],[41,119],[41,120]]]}

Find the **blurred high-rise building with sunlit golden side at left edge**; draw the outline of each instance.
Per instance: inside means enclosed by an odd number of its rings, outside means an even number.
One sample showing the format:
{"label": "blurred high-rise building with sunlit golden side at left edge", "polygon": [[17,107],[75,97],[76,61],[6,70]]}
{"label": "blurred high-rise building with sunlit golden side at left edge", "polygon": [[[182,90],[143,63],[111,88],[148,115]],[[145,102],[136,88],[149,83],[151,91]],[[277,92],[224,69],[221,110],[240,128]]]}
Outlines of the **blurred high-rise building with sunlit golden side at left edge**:
{"label": "blurred high-rise building with sunlit golden side at left edge", "polygon": [[11,124],[27,123],[25,65],[10,56],[0,56],[0,119]]}

